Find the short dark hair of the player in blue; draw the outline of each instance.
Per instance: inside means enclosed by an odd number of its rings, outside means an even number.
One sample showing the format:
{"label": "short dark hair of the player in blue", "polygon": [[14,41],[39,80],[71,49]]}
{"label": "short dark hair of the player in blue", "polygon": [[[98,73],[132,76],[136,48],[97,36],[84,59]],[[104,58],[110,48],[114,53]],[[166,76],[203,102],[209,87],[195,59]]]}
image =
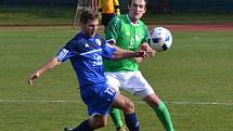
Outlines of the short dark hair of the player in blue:
{"label": "short dark hair of the player in blue", "polygon": [[89,11],[89,10],[85,10],[81,12],[80,14],[80,19],[79,22],[81,24],[87,24],[89,19],[96,19],[98,18],[98,13],[93,12],[93,11]]}

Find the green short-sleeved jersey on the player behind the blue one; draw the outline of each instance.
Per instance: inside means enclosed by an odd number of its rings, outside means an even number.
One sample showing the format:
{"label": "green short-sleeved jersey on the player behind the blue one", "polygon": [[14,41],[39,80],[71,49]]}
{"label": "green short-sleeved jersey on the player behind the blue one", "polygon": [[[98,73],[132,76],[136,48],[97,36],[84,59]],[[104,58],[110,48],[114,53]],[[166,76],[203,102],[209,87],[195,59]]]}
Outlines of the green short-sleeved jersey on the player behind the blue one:
{"label": "green short-sleeved jersey on the player behind the blue one", "polygon": [[[128,15],[120,15],[111,21],[105,37],[107,40],[114,39],[116,45],[124,50],[135,51],[141,43],[147,42],[147,28],[142,21],[133,24]],[[133,71],[139,70],[139,65],[133,58],[104,60],[104,68],[105,71]]]}

